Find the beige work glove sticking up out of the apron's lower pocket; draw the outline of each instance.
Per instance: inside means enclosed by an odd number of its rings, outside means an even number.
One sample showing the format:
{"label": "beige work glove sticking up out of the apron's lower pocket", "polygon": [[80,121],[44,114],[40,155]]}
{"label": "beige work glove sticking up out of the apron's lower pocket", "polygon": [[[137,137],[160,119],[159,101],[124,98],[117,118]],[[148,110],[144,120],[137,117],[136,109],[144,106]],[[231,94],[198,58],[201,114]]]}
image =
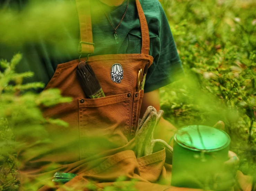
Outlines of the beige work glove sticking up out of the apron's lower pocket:
{"label": "beige work glove sticking up out of the apron's lower pocket", "polygon": [[148,107],[135,133],[135,142],[137,149],[137,158],[152,154],[159,148],[165,147],[167,158],[172,158],[173,148],[161,139],[154,139],[153,132],[158,125],[164,111],[156,113],[152,106]]}

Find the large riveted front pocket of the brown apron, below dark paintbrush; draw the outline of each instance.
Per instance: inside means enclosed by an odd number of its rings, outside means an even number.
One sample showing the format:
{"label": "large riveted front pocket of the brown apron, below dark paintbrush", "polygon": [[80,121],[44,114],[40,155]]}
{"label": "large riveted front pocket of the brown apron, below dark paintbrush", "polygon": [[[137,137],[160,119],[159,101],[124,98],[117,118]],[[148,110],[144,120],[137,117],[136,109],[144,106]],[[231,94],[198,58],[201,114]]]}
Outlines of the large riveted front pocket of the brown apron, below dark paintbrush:
{"label": "large riveted front pocket of the brown apron, below dark paintbrush", "polygon": [[79,99],[80,160],[128,143],[131,93]]}

